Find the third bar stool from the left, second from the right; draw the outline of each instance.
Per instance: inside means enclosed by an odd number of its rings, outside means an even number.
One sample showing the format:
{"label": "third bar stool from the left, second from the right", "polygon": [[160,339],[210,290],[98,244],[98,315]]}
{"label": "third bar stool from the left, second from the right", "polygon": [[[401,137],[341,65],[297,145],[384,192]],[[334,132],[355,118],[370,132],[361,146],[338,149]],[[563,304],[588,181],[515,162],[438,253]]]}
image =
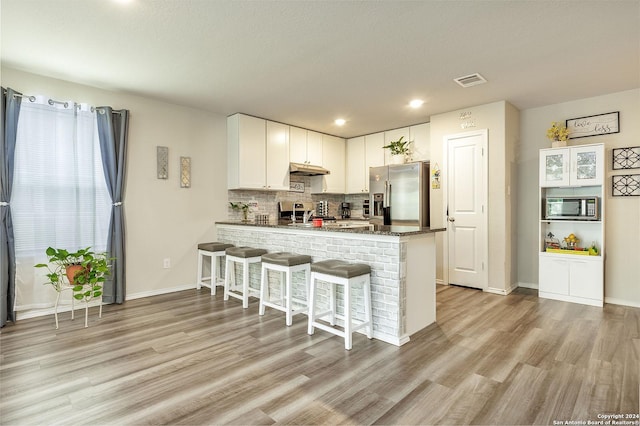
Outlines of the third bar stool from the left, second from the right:
{"label": "third bar stool from the left, second from the right", "polygon": [[[259,314],[264,315],[265,307],[285,312],[287,326],[293,322],[293,316],[307,312],[309,298],[309,276],[311,271],[311,256],[278,252],[262,255],[262,274],[260,278],[260,308]],[[269,270],[279,271],[280,274],[280,303],[270,299]],[[292,275],[294,272],[304,271],[305,297],[307,300],[295,298],[292,292]],[[294,309],[293,303],[301,306]]]}

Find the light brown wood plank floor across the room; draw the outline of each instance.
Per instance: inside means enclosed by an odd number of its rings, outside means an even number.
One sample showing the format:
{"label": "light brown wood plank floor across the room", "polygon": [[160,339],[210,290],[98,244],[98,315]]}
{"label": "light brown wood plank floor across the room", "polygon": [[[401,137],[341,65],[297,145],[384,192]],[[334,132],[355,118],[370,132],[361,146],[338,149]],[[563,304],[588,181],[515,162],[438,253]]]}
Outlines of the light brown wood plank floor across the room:
{"label": "light brown wood plank floor across the room", "polygon": [[[0,332],[0,423],[480,424],[639,411],[640,309],[437,286],[437,323],[353,350],[209,290]],[[632,419],[637,421],[637,419]],[[564,424],[564,422],[563,422]],[[636,423],[638,424],[638,423]]]}

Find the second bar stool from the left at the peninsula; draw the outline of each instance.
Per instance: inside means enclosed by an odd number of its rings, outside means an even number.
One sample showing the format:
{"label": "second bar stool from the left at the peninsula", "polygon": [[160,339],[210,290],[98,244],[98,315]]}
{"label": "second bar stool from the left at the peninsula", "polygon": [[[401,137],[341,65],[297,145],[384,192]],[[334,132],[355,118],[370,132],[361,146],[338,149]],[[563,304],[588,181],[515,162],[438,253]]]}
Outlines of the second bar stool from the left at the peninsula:
{"label": "second bar stool from the left at the peninsula", "polygon": [[[227,262],[224,274],[224,300],[229,296],[242,300],[242,307],[249,307],[249,292],[259,293],[259,290],[249,287],[249,264],[258,263],[267,251],[253,247],[230,247],[226,251]],[[242,286],[236,280],[235,264],[242,264]],[[237,293],[234,293],[237,292]]]}

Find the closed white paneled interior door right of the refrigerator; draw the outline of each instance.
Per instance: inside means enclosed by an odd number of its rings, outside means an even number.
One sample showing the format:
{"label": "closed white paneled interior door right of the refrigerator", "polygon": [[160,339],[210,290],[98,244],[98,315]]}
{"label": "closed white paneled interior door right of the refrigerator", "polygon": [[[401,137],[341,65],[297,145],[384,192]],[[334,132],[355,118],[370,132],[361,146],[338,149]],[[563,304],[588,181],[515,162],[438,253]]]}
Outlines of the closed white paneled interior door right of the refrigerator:
{"label": "closed white paneled interior door right of the refrigerator", "polygon": [[488,281],[487,130],[445,136],[448,282],[485,289]]}

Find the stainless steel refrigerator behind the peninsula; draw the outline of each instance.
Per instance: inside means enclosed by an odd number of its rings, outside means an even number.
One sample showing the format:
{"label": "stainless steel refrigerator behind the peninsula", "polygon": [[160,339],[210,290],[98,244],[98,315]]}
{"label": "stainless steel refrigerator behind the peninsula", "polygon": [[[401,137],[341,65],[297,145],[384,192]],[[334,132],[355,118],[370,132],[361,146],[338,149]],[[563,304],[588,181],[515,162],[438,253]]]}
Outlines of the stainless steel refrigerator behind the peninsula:
{"label": "stainless steel refrigerator behind the peninsula", "polygon": [[370,222],[429,226],[429,163],[369,168]]}

